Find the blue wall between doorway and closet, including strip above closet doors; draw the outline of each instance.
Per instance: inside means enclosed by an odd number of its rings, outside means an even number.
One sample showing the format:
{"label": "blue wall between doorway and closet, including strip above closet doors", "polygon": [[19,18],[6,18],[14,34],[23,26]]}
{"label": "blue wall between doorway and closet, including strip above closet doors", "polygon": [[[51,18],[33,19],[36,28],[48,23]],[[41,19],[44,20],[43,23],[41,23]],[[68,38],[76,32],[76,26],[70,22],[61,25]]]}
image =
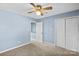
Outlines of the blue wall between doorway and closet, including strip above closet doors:
{"label": "blue wall between doorway and closet, including strip above closet doors", "polygon": [[79,10],[40,19],[40,21],[43,22],[43,41],[49,42],[49,43],[55,43],[56,39],[55,39],[54,21],[57,18],[64,18],[64,17],[70,17],[70,16],[79,16]]}

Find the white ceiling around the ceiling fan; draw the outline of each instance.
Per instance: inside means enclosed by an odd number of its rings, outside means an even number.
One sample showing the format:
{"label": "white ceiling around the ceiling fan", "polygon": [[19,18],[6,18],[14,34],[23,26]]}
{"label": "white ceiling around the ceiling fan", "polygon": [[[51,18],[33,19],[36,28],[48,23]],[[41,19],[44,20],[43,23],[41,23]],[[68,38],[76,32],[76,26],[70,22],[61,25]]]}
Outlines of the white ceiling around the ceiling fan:
{"label": "white ceiling around the ceiling fan", "polygon": [[35,19],[40,19],[43,17],[48,17],[51,15],[56,15],[56,14],[79,9],[78,3],[51,3],[51,4],[40,3],[40,4],[43,5],[44,7],[46,7],[46,5],[52,5],[53,10],[48,11],[48,13],[45,14],[44,16],[37,16],[35,13],[28,14],[27,12],[31,11],[32,9],[32,6],[28,3],[0,3],[0,10],[10,11],[20,15],[29,16]]}

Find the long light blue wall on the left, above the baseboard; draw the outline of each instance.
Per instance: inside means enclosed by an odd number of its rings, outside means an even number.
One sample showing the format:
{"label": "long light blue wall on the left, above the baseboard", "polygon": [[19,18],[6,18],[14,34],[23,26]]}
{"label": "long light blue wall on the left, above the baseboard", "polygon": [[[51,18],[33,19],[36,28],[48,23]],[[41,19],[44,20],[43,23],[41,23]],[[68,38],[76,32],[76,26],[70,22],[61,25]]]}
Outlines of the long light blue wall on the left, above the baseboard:
{"label": "long light blue wall on the left, above the baseboard", "polygon": [[31,19],[0,11],[0,51],[30,42]]}

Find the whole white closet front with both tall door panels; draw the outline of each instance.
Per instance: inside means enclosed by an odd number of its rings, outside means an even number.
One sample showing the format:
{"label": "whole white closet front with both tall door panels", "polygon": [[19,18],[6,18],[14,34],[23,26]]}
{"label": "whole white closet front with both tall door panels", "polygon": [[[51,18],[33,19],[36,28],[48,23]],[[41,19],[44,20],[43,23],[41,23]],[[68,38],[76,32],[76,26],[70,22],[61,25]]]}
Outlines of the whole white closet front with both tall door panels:
{"label": "whole white closet front with both tall door panels", "polygon": [[79,52],[79,17],[55,20],[56,45]]}

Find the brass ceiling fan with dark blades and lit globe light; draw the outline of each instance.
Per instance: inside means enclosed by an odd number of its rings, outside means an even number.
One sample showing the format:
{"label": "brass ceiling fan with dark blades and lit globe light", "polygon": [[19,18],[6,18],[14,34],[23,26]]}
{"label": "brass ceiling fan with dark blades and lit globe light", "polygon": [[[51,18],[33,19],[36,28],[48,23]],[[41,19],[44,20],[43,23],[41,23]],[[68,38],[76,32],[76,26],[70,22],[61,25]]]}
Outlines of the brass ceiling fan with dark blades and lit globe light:
{"label": "brass ceiling fan with dark blades and lit globe light", "polygon": [[34,3],[30,3],[30,5],[32,5],[33,10],[30,11],[30,12],[28,12],[28,13],[33,13],[33,12],[35,12],[36,15],[39,15],[39,16],[43,16],[45,11],[47,11],[47,10],[52,10],[52,9],[53,9],[52,6],[43,8],[42,5],[35,5]]}

